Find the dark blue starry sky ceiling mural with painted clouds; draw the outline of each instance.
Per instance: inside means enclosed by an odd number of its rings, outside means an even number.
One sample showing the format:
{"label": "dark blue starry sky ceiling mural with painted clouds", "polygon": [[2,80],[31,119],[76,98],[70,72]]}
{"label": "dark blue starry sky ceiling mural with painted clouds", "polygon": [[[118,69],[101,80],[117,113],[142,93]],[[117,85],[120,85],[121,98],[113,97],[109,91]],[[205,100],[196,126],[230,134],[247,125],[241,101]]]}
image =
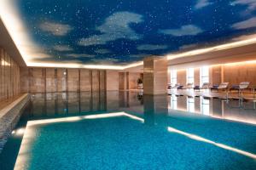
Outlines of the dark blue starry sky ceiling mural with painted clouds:
{"label": "dark blue starry sky ceiling mural with painted clouds", "polygon": [[9,0],[35,62],[127,65],[256,31],[256,0]]}

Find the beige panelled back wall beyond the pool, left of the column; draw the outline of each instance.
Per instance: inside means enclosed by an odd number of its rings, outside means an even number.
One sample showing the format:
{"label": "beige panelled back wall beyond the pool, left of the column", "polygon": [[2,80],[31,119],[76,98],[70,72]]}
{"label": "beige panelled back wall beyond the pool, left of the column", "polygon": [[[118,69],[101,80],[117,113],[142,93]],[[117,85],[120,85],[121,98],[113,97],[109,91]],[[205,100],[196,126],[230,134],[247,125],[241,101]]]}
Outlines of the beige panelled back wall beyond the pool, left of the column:
{"label": "beige panelled back wall beyond the pool, left of the column", "polygon": [[21,68],[20,84],[22,93],[99,91],[106,89],[106,71]]}

